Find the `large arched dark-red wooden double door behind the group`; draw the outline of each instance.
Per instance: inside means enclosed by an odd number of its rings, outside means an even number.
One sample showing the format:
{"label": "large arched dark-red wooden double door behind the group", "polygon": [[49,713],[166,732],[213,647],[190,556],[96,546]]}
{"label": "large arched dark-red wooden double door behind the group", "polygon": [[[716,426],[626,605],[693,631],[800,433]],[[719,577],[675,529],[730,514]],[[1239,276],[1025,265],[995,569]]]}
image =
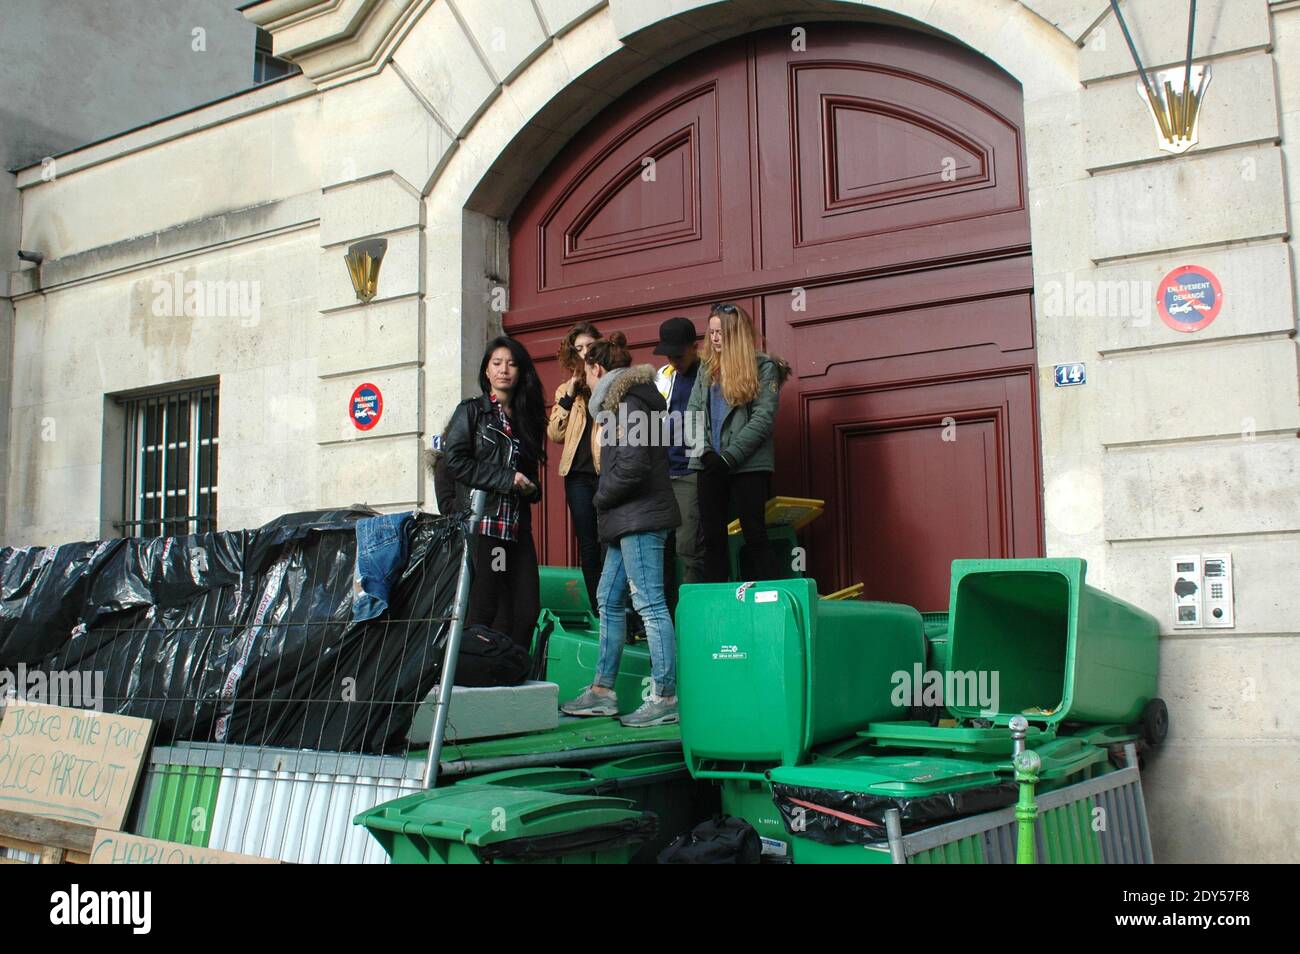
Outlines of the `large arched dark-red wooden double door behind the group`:
{"label": "large arched dark-red wooden double door behind the group", "polygon": [[[793,368],[774,493],[826,500],[820,590],[945,608],[954,558],[1043,546],[1020,88],[931,36],[806,30],[702,51],[580,133],[512,218],[506,330],[550,399],[576,320],[655,361],[664,318],[742,304]],[[555,451],[538,550],[572,564]]]}

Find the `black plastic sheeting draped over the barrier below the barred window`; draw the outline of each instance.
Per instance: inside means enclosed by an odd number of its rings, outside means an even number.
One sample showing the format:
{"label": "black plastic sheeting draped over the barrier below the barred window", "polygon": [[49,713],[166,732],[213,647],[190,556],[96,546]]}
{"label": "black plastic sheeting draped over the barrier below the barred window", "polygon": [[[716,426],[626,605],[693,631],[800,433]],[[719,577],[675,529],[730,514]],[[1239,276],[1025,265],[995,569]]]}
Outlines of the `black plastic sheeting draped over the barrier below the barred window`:
{"label": "black plastic sheeting draped over the barrier below the barred window", "polygon": [[393,753],[437,682],[464,541],[417,515],[387,612],[352,623],[365,508],[255,530],[0,548],[0,668],[103,672],[155,745]]}

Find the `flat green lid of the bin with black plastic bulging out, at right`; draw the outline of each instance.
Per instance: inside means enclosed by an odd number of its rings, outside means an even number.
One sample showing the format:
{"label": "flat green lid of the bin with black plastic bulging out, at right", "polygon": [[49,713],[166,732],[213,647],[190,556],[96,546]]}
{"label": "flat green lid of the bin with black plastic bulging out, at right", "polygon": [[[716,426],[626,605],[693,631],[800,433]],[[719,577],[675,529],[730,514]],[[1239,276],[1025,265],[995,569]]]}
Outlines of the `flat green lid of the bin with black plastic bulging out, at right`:
{"label": "flat green lid of the bin with black plastic bulging out, at right", "polygon": [[997,785],[1002,781],[989,763],[900,755],[880,758],[864,755],[844,762],[827,759],[816,766],[783,766],[767,775],[781,785],[862,792],[890,798],[915,798]]}

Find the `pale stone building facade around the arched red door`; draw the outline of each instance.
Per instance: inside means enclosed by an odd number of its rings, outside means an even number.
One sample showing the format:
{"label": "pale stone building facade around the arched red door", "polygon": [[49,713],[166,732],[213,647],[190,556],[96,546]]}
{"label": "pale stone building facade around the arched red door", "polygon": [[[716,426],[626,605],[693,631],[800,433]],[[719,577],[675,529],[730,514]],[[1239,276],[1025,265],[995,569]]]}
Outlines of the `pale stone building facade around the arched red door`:
{"label": "pale stone building facade around the arched red door", "polygon": [[[1186,5],[1126,0],[1148,68]],[[1148,767],[1157,857],[1296,857],[1300,716],[1300,3],[1202,0],[1200,144],[1157,147],[1106,0],[263,0],[303,74],[17,175],[8,545],[113,535],[121,395],[218,381],[220,524],[365,502],[433,508],[421,448],[474,387],[510,289],[510,221],[603,108],[689,53],[771,26],[944,36],[1023,90],[1043,534],[1164,625],[1170,740]],[[387,239],[358,303],[342,257]],[[1195,263],[1217,320],[1173,330],[1154,289]],[[177,281],[235,283],[159,313]],[[239,286],[239,283],[244,283]],[[255,292],[252,291],[255,289]],[[233,292],[234,294],[234,292]],[[1147,292],[1140,298],[1147,300]],[[1088,383],[1054,387],[1086,363]],[[359,383],[378,422],[348,419]],[[1231,629],[1173,625],[1173,558],[1230,552]]]}

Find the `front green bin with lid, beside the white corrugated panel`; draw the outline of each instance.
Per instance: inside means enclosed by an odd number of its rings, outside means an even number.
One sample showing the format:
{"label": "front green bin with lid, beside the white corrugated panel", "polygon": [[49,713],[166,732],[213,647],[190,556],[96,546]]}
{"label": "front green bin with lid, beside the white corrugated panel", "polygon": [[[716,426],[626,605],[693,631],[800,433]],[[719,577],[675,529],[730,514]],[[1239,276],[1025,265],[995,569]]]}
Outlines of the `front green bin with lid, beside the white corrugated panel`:
{"label": "front green bin with lid, beside the white corrugated panel", "polygon": [[627,864],[655,818],[625,798],[504,785],[451,785],[369,808],[394,864]]}

